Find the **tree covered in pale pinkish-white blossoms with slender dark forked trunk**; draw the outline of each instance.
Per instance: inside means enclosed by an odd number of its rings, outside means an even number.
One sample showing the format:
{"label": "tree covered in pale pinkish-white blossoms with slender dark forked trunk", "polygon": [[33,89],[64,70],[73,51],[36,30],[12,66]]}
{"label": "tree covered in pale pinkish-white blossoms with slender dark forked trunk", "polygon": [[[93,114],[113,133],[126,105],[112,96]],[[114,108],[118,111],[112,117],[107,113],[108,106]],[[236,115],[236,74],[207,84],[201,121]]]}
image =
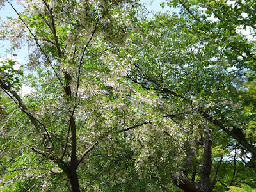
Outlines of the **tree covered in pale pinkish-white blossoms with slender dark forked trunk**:
{"label": "tree covered in pale pinkish-white blossoms with slender dark forked trunk", "polygon": [[[6,3],[15,10],[10,1]],[[77,168],[88,153],[112,134],[144,124],[136,124],[141,115],[126,109],[131,99],[121,97],[132,88],[124,91],[129,81],[119,77],[125,70],[120,71],[118,63],[129,58],[111,53],[125,44],[140,4],[44,0],[20,4],[24,10],[15,10],[17,18],[6,19],[1,31],[15,50],[24,44],[29,49],[28,63],[20,70],[14,70],[13,60],[1,64],[0,86],[5,93],[1,98],[8,116],[1,125],[2,173],[10,179],[13,172],[49,172],[53,184],[64,174],[70,181],[67,188],[80,191],[82,170]],[[33,88],[25,97],[19,93],[22,83]],[[29,164],[24,166],[27,158]],[[86,184],[90,188],[83,179],[83,188]],[[28,180],[31,189],[37,190],[36,182]],[[50,188],[46,180],[39,186]]]}

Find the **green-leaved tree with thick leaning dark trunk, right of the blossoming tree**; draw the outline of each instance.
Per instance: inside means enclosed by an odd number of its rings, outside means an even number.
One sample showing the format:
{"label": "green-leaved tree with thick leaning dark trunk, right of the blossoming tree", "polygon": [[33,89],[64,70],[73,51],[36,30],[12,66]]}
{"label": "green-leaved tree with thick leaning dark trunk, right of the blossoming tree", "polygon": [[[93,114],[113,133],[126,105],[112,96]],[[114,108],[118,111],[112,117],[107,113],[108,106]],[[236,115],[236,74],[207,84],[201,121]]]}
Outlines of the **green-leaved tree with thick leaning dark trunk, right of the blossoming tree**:
{"label": "green-leaved tree with thick leaning dark trunk, right of the blossoming tree", "polygon": [[[184,148],[192,163],[189,170],[186,163],[184,166],[180,164],[185,173],[172,175],[175,184],[184,191],[212,191],[218,181],[227,187],[218,177],[223,156],[230,156],[232,151],[235,155],[233,179],[227,181],[230,185],[234,184],[236,173],[241,172],[236,170],[236,163],[250,166],[255,172],[255,140],[250,139],[254,131],[248,127],[253,118],[244,113],[244,109],[248,108],[244,100],[248,94],[244,83],[254,79],[255,74],[255,11],[249,8],[253,3],[236,1],[232,5],[225,1],[168,1],[167,4],[179,8],[179,14],[155,15],[154,19],[141,24],[143,27],[140,29],[145,35],[143,39],[142,35],[135,36],[134,40],[145,48],[137,51],[138,60],[129,78],[163,98],[162,116],[185,125],[182,136],[189,129],[191,131],[187,134],[196,136],[190,150],[185,149],[186,143],[180,142],[180,148]],[[252,27],[251,39],[241,31],[248,26]],[[173,108],[173,103],[176,108]],[[181,124],[182,120],[186,123]],[[201,131],[196,130],[200,125],[196,120],[201,121]],[[217,134],[215,146],[212,146],[213,151],[214,148],[221,148],[223,152],[215,159],[205,159],[205,147],[208,145],[205,140],[204,158],[196,162],[195,158],[199,157],[196,148],[202,145],[198,141],[202,140],[200,134],[204,129],[202,122],[205,121],[211,122],[212,134],[223,131],[221,135]],[[248,134],[248,130],[252,132]],[[188,139],[188,136],[185,138]],[[193,140],[190,142],[193,143]],[[227,148],[231,152],[226,154]],[[211,147],[207,154],[211,156]],[[239,158],[242,161],[237,160]],[[208,167],[204,167],[205,160]],[[213,162],[215,175],[211,172],[212,160],[216,161]],[[197,167],[198,163],[202,166],[201,170]]]}

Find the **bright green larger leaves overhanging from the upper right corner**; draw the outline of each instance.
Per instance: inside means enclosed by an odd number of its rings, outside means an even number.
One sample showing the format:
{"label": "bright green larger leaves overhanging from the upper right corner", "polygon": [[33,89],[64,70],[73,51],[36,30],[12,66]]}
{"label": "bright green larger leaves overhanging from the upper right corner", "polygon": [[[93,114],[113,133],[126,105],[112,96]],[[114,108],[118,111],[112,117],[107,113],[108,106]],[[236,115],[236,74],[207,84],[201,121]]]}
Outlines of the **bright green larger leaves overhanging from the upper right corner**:
{"label": "bright green larger leaves overhanging from the upper right corner", "polygon": [[252,38],[255,35],[255,14],[248,4],[252,5],[252,2],[169,1],[169,6],[182,8],[184,19],[191,23],[193,31],[201,35],[208,33],[207,40],[222,49],[223,56],[236,60],[239,67],[252,68],[252,63],[255,63],[255,40]]}

